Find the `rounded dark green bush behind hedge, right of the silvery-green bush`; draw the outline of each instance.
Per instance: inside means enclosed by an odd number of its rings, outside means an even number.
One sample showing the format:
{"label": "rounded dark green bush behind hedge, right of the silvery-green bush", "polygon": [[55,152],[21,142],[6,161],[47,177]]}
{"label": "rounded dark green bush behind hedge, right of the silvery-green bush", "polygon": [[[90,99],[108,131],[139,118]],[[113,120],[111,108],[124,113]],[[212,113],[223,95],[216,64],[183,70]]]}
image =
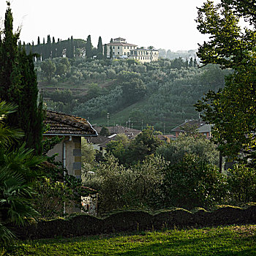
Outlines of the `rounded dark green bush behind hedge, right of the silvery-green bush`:
{"label": "rounded dark green bush behind hedge, right of the silvery-green bush", "polygon": [[162,192],[165,207],[209,207],[222,201],[227,188],[217,167],[187,154],[171,164],[165,173]]}

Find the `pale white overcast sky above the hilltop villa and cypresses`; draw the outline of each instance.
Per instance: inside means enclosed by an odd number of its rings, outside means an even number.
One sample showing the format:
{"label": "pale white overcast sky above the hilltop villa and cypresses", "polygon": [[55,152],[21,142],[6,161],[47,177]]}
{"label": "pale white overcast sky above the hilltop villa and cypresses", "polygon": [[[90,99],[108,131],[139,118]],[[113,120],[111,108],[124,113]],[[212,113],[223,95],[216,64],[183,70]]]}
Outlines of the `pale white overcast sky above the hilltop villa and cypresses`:
{"label": "pale white overcast sky above the hilltop villa and cypresses", "polygon": [[[197,31],[197,8],[206,0],[11,0],[15,29],[21,41],[37,43],[39,36],[57,40],[73,36],[94,46],[124,37],[138,46],[176,50],[197,48],[207,39]],[[217,2],[217,0],[214,0]],[[0,0],[4,20],[6,0]]]}

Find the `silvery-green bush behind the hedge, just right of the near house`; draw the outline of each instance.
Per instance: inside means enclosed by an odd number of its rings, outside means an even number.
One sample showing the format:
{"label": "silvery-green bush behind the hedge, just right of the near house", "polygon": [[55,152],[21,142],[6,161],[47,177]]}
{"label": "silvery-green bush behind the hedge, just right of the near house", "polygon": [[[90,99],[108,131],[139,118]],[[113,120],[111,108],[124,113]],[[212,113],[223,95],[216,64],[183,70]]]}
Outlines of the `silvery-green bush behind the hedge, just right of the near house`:
{"label": "silvery-green bush behind the hedge, just right of the near house", "polygon": [[165,161],[148,157],[135,167],[125,168],[112,156],[101,162],[95,174],[85,178],[86,186],[99,192],[99,211],[124,208],[157,208],[162,200],[160,186]]}

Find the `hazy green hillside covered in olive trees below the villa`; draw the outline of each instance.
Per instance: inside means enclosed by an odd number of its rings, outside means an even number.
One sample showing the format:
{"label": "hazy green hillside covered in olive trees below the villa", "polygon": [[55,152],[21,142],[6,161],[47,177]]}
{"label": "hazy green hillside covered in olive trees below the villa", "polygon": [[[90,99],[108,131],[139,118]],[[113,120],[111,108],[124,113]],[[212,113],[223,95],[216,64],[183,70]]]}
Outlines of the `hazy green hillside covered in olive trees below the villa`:
{"label": "hazy green hillside covered in olive trees below the villa", "polygon": [[130,120],[136,129],[149,124],[170,132],[185,119],[197,118],[193,105],[209,89],[222,88],[230,72],[193,66],[181,58],[148,64],[55,58],[39,61],[37,74],[50,110],[89,118],[91,124],[125,126]]}

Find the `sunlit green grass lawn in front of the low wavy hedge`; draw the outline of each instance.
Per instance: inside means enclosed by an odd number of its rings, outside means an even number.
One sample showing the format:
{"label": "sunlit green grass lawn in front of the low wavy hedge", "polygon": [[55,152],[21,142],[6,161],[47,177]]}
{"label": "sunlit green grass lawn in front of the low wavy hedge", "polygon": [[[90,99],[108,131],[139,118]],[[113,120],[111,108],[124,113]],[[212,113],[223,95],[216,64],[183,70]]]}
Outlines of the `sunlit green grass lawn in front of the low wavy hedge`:
{"label": "sunlit green grass lawn in front of the low wavy hedge", "polygon": [[21,241],[7,255],[256,255],[256,225]]}

